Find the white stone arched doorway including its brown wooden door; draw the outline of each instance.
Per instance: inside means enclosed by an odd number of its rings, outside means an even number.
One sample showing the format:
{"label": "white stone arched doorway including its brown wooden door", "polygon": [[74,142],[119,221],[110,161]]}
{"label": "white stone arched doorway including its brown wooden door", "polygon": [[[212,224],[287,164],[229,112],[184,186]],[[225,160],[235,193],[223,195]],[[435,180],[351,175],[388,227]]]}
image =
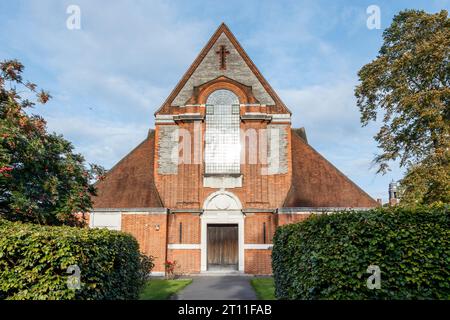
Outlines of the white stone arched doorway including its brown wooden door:
{"label": "white stone arched doorway including its brown wooden door", "polygon": [[201,216],[201,271],[244,272],[244,215],[239,199],[220,190],[206,199]]}

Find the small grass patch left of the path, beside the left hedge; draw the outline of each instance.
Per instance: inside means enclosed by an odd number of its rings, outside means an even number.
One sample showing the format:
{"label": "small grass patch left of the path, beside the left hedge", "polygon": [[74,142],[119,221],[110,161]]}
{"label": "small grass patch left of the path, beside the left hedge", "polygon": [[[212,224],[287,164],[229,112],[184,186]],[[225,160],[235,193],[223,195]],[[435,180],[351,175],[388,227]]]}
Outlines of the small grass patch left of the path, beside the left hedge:
{"label": "small grass patch left of the path, beside the left hedge", "polygon": [[152,279],[145,285],[140,300],[167,300],[192,282],[191,279],[166,280]]}

